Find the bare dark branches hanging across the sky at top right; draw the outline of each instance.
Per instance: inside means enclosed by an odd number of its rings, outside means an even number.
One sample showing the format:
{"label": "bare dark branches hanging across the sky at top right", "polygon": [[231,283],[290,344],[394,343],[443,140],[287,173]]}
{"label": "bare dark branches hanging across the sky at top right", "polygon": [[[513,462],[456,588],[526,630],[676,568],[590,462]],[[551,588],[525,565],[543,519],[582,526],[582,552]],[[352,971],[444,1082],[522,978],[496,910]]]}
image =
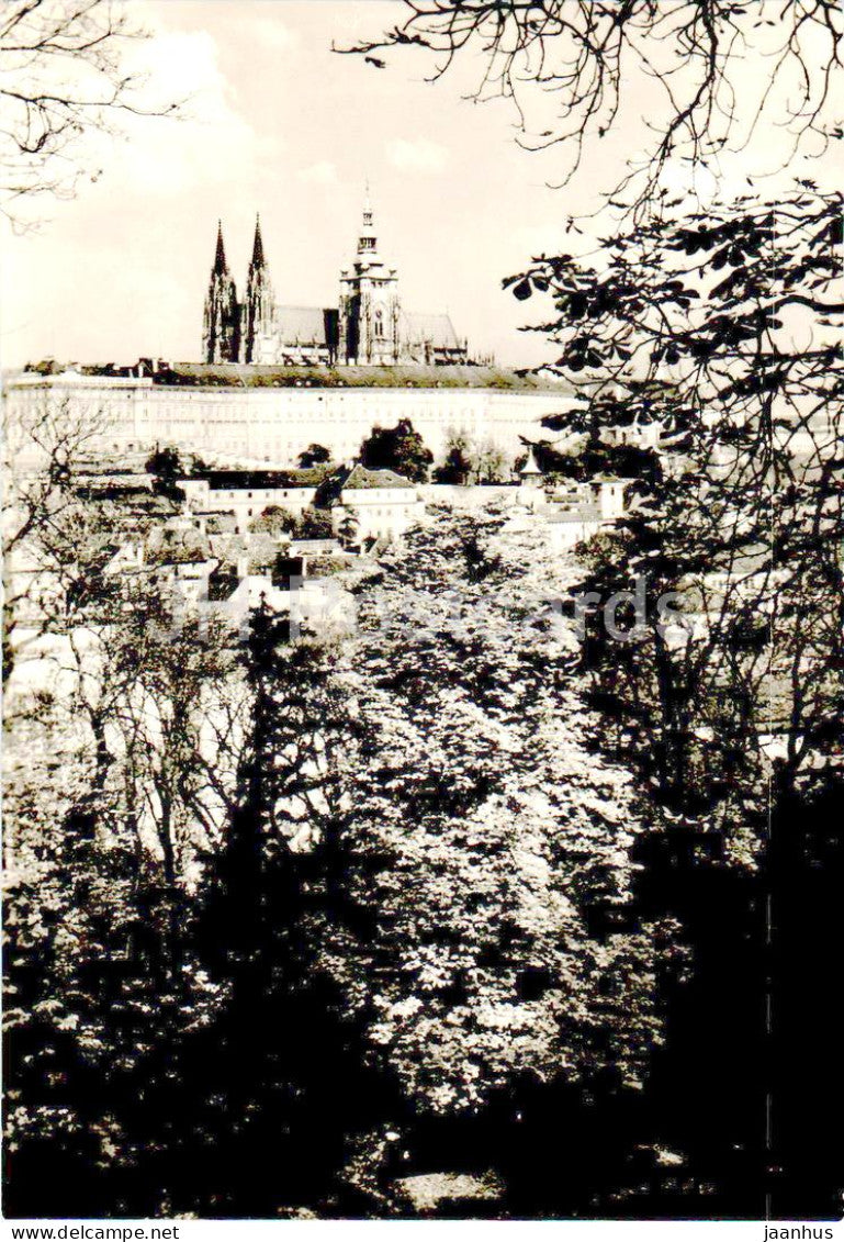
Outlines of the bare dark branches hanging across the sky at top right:
{"label": "bare dark branches hanging across the sky at top right", "polygon": [[[653,82],[663,104],[645,122],[650,140],[607,195],[631,195],[631,205],[653,200],[669,160],[715,161],[742,149],[763,118],[781,127],[783,166],[809,135],[840,137],[829,114],[844,34],[835,0],[406,0],[405,9],[382,37],[334,50],[382,65],[372,52],[422,48],[433,60],[428,81],[458,56],[477,57],[473,98],[510,101],[525,148],[559,147],[561,184],[585,144],[595,153],[622,107],[633,107],[637,79]],[[755,94],[753,81],[768,84]]]}

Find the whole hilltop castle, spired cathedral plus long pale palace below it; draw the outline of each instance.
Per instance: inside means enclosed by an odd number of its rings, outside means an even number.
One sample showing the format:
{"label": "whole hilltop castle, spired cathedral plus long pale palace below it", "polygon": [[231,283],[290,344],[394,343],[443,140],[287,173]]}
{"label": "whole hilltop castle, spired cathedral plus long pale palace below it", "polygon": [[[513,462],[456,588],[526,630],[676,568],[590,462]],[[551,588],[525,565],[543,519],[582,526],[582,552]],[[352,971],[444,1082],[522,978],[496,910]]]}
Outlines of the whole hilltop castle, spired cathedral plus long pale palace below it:
{"label": "whole hilltop castle, spired cathedral plus long pale palace below it", "polygon": [[436,461],[460,433],[506,462],[575,399],[559,383],[469,358],[447,314],[413,314],[379,253],[369,202],[336,307],[278,303],[254,231],[242,301],[222,229],[205,302],[201,361],[52,363],[5,376],[9,414],[62,410],[102,428],[118,456],[173,445],[220,466],[294,466],[310,445],[349,461],[374,426],[407,419]]}

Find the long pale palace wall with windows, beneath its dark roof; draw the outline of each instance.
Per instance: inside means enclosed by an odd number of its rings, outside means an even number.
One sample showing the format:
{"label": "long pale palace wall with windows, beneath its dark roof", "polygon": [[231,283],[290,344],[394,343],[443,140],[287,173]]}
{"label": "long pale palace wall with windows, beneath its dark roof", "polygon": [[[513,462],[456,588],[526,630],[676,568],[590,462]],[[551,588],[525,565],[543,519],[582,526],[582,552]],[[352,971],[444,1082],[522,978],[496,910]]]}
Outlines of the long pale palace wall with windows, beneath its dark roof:
{"label": "long pale palace wall with windows, beneath its dark roof", "polygon": [[312,443],[325,445],[338,461],[351,458],[376,424],[392,426],[398,419],[410,419],[436,460],[458,430],[513,460],[523,451],[521,436],[551,438],[542,417],[573,405],[570,396],[549,389],[211,388],[74,371],[11,376],[5,395],[12,422],[22,414],[37,416],[40,406],[67,402],[70,417],[102,425],[96,446],[107,451],[174,445],[279,467],[295,465]]}

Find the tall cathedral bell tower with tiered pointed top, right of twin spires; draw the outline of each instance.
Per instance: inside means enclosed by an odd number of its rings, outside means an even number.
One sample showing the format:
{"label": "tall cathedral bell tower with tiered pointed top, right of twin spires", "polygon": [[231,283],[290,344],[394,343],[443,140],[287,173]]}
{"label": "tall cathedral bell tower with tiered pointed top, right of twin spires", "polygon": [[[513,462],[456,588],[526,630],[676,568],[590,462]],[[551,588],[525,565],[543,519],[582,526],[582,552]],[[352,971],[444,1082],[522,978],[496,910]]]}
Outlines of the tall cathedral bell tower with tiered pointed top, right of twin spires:
{"label": "tall cathedral bell tower with tiered pointed top, right of twin spires", "polygon": [[388,366],[400,358],[398,277],[379,255],[369,191],[350,270],[340,272],[340,361]]}

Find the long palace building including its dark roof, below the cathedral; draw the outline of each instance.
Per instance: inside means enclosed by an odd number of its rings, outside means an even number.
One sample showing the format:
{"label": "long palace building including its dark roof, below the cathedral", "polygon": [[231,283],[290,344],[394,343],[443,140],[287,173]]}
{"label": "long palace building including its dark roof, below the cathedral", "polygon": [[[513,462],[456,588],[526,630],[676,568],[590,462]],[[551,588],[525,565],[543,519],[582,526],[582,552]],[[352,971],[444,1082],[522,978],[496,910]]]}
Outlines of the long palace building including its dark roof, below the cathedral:
{"label": "long palace building including its dark roof, below the cathedral", "polygon": [[123,375],[66,370],[6,378],[7,416],[22,426],[60,411],[91,422],[91,448],[149,453],[173,445],[207,461],[295,466],[312,443],[335,461],[372,427],[413,424],[436,461],[463,433],[508,462],[524,441],[552,438],[542,420],[577,405],[560,385],[484,366],[245,366],[139,364]]}

